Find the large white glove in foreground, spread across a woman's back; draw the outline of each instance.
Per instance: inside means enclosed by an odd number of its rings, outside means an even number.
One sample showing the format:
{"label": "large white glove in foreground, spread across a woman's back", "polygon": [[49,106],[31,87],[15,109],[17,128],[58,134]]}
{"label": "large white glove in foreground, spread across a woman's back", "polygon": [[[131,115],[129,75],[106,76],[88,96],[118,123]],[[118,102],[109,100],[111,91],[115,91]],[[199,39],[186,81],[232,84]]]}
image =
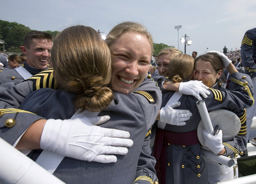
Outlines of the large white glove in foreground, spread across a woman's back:
{"label": "large white glove in foreground, spread across a woman's back", "polygon": [[133,141],[129,132],[95,126],[109,116],[46,121],[40,147],[63,156],[101,163],[116,162],[113,154],[124,155]]}

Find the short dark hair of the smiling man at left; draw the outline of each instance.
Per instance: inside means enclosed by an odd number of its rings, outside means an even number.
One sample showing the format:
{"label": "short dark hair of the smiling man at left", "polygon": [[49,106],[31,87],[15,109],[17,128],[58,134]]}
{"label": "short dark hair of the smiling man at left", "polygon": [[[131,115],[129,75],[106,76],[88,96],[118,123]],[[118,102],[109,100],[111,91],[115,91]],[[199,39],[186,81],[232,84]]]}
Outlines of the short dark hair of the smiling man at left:
{"label": "short dark hair of the smiling man at left", "polygon": [[47,39],[52,40],[52,35],[42,31],[30,31],[24,38],[24,46],[29,48],[33,39]]}

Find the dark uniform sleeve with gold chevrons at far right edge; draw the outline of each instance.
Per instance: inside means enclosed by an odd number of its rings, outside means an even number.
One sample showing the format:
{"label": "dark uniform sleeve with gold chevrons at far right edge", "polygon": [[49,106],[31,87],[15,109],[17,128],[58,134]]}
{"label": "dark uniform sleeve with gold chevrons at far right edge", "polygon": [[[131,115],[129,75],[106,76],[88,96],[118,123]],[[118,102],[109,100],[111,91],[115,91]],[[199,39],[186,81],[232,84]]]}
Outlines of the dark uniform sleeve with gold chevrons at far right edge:
{"label": "dark uniform sleeve with gold chevrons at far right edge", "polygon": [[245,33],[241,44],[241,59],[245,71],[250,77],[256,76],[256,28]]}

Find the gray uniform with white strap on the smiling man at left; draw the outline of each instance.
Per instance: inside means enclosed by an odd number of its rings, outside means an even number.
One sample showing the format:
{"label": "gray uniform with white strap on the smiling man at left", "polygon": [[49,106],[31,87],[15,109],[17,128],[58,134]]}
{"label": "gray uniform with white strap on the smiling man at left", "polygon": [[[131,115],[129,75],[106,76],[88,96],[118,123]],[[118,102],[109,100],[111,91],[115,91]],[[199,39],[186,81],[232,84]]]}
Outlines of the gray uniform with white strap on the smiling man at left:
{"label": "gray uniform with white strap on the smiling man at left", "polygon": [[0,73],[0,85],[9,82],[16,84],[21,83],[24,79],[28,79],[41,71],[40,69],[29,66],[26,61],[24,61],[24,64],[17,68],[3,70]]}

